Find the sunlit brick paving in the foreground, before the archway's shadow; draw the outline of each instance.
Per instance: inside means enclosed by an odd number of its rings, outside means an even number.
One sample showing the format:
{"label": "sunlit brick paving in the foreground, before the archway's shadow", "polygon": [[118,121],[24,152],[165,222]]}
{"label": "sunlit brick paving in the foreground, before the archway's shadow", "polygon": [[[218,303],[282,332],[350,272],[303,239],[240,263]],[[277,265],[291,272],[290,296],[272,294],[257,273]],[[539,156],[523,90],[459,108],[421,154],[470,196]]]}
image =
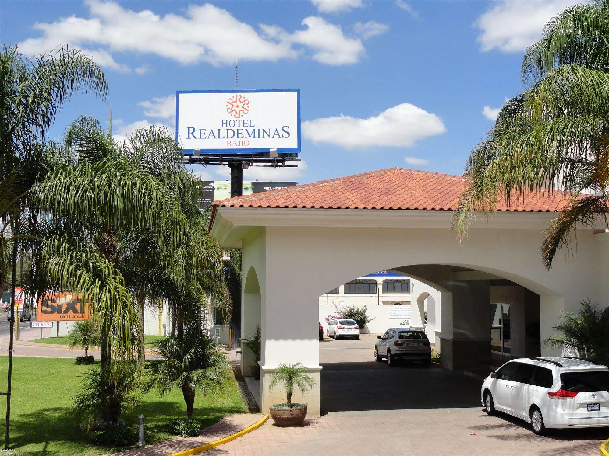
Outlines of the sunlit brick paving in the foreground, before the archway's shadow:
{"label": "sunlit brick paving in the foreground, before the archway's shadow", "polygon": [[269,419],[206,455],[591,456],[607,437],[607,428],[538,437],[524,421],[487,416],[481,407],[331,412],[294,428],[276,427]]}

